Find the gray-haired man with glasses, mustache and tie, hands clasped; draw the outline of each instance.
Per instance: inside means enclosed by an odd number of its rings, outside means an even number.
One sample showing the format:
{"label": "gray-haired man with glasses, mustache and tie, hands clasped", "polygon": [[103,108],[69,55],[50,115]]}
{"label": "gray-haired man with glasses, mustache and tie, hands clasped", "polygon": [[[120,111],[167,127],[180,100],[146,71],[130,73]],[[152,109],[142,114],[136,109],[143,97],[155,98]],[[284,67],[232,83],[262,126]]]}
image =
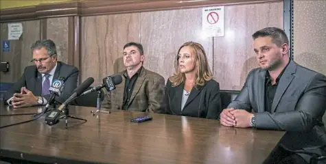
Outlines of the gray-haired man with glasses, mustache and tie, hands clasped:
{"label": "gray-haired man with glasses, mustache and tie, hands clasped", "polygon": [[56,100],[65,101],[77,87],[78,68],[57,61],[56,44],[52,40],[38,40],[31,46],[34,66],[27,66],[4,98],[14,108],[45,105],[49,87],[54,79],[65,79],[65,87]]}

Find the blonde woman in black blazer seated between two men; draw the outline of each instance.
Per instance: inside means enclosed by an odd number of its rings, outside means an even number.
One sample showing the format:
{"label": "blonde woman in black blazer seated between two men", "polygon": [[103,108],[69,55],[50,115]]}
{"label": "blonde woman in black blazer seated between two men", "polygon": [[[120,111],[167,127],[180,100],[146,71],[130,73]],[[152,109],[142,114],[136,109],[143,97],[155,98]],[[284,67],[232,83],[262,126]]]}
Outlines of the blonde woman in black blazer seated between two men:
{"label": "blonde woman in black blazer seated between two men", "polygon": [[222,111],[220,85],[212,79],[202,45],[186,42],[176,59],[176,72],[165,86],[165,112],[217,119]]}

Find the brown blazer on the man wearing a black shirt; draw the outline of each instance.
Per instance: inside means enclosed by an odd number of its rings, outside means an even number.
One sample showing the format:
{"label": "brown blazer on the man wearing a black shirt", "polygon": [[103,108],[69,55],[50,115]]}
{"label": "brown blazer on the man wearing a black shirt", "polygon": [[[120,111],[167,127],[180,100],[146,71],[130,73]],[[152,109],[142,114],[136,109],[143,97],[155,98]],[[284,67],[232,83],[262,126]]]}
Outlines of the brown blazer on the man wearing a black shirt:
{"label": "brown blazer on the man wearing a black shirt", "polygon": [[[119,72],[122,82],[115,85],[115,90],[111,92],[104,91],[104,100],[102,107],[111,109],[122,109],[124,102],[124,85],[126,78],[124,77],[126,70]],[[128,111],[148,111],[154,113],[163,113],[164,111],[164,78],[155,72],[141,68],[141,72],[135,83]]]}

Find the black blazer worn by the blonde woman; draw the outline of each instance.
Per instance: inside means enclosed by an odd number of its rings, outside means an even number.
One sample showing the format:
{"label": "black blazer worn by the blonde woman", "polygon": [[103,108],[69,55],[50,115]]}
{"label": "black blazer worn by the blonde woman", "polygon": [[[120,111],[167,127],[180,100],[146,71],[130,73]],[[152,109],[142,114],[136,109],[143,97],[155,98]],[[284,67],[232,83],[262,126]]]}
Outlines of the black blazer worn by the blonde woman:
{"label": "black blazer worn by the blonde woman", "polygon": [[183,110],[181,100],[185,83],[176,87],[170,80],[165,86],[165,112],[172,115],[187,115],[197,118],[217,119],[222,111],[220,85],[217,81],[207,81],[204,86],[193,87]]}

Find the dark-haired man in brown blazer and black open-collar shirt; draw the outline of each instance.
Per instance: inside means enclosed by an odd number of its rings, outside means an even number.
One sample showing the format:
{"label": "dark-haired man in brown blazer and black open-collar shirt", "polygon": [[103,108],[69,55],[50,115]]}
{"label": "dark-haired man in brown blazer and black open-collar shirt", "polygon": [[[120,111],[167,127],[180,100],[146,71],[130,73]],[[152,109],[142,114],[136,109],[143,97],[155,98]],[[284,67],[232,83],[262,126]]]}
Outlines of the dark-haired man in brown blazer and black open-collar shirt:
{"label": "dark-haired man in brown blazer and black open-collar shirt", "polygon": [[111,92],[104,90],[102,107],[129,111],[162,113],[164,110],[164,78],[143,68],[143,46],[129,42],[124,46],[124,66],[119,72],[122,82]]}

